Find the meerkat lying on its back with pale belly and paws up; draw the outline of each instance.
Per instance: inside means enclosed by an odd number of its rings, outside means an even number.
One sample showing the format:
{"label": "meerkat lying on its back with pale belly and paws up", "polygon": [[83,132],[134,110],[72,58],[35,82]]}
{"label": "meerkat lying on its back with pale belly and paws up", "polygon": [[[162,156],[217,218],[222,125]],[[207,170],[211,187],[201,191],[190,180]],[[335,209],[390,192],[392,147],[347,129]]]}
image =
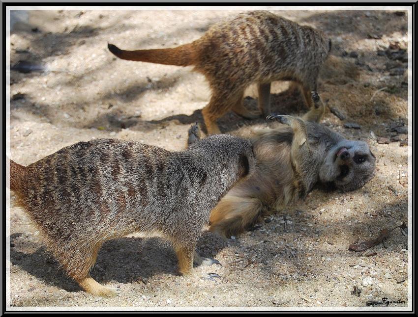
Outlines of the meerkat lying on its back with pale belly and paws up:
{"label": "meerkat lying on its back with pale belly and paws up", "polygon": [[[347,140],[319,124],[325,106],[315,92],[312,100],[314,107],[302,118],[272,114],[268,119],[280,125],[251,132],[257,165],[212,210],[210,231],[237,235],[271,211],[305,198],[319,183],[350,191],[374,176],[375,156],[367,143]],[[196,132],[189,136],[191,143],[198,138]]]}

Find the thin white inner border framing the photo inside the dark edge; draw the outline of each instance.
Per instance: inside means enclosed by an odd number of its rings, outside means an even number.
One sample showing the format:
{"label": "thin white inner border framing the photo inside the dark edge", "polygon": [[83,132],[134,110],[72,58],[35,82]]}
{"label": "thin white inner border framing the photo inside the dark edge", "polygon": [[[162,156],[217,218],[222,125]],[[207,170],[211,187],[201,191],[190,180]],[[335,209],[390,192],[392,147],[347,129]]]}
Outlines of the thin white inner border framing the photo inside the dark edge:
{"label": "thin white inner border framing the photo inside the dark edge", "polygon": [[[412,4],[412,3],[411,3]],[[10,10],[97,10],[97,6],[6,6],[6,155],[10,157]],[[408,307],[10,307],[10,190],[6,190],[6,311],[412,311],[412,7],[410,6],[101,6],[99,10],[407,10]],[[7,164],[6,164],[7,165]],[[9,167],[6,166],[6,187]]]}

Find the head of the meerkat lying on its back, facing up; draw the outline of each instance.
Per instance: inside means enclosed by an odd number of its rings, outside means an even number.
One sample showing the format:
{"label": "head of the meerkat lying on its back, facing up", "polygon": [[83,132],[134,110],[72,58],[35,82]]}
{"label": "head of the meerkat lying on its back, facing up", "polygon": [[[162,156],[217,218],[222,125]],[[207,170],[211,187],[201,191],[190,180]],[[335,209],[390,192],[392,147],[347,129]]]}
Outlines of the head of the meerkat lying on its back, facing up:
{"label": "head of the meerkat lying on its back, facing up", "polygon": [[375,174],[376,158],[366,142],[341,140],[327,153],[320,168],[323,183],[343,191],[363,186]]}

